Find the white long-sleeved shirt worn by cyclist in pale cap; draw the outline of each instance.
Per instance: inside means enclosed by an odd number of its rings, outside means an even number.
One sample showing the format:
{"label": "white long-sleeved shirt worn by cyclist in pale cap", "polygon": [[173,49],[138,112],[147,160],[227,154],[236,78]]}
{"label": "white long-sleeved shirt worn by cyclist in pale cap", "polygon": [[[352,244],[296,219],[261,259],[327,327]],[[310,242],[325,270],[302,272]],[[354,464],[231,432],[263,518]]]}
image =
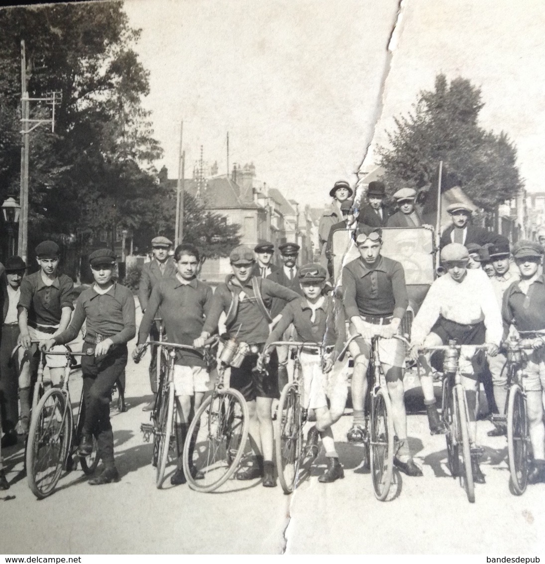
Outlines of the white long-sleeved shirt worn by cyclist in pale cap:
{"label": "white long-sleeved shirt worn by cyclist in pale cap", "polygon": [[502,315],[494,288],[483,270],[467,270],[462,282],[449,274],[433,282],[413,321],[411,337],[422,343],[442,315],[463,325],[485,322],[486,342],[499,345],[502,340]]}

